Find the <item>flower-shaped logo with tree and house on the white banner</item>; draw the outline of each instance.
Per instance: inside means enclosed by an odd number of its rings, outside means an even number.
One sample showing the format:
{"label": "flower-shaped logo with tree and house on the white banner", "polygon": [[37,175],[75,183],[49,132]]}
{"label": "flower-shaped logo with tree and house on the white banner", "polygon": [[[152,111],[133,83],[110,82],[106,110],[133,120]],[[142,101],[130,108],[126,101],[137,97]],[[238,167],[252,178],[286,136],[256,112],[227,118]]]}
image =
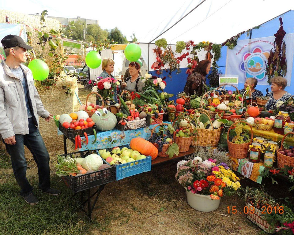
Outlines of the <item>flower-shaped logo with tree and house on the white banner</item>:
{"label": "flower-shaped logo with tree and house on the white banner", "polygon": [[247,52],[243,56],[240,69],[245,72],[245,77],[254,77],[262,80],[266,76],[266,63],[269,58],[269,51],[262,51],[260,47],[255,47],[252,52]]}

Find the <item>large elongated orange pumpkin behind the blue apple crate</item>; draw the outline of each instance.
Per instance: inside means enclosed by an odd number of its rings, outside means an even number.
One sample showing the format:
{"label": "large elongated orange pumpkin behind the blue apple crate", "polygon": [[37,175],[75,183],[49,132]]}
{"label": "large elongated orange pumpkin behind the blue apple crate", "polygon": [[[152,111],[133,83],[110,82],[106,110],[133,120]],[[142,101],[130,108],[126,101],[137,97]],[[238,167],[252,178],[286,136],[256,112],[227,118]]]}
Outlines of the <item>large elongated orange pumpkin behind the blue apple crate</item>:
{"label": "large elongated orange pumpkin behind the blue apple crate", "polygon": [[145,156],[151,156],[151,160],[155,159],[158,155],[158,149],[152,143],[140,137],[132,139],[130,147]]}

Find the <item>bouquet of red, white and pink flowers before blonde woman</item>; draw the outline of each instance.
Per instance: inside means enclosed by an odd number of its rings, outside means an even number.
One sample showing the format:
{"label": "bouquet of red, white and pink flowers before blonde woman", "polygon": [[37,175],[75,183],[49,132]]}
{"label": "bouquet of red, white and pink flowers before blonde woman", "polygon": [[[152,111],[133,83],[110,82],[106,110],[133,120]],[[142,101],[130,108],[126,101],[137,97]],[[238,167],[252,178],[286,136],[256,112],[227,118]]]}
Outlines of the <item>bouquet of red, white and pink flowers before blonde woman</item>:
{"label": "bouquet of red, white and pink flowers before blonde woman", "polygon": [[93,86],[92,92],[97,92],[104,101],[107,99],[113,101],[113,94],[116,86],[119,85],[119,81],[112,77],[97,77],[96,80],[90,80],[89,84]]}

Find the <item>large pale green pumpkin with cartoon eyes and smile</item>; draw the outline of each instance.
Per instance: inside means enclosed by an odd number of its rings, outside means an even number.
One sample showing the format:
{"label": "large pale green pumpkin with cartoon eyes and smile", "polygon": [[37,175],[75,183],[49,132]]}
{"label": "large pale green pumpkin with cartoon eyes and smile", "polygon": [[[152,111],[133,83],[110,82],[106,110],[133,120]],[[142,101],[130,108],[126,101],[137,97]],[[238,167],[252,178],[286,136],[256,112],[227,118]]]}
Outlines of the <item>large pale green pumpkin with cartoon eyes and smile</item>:
{"label": "large pale green pumpkin with cartoon eyes and smile", "polygon": [[96,111],[91,118],[96,123],[97,129],[100,131],[110,131],[115,128],[116,117],[106,108]]}

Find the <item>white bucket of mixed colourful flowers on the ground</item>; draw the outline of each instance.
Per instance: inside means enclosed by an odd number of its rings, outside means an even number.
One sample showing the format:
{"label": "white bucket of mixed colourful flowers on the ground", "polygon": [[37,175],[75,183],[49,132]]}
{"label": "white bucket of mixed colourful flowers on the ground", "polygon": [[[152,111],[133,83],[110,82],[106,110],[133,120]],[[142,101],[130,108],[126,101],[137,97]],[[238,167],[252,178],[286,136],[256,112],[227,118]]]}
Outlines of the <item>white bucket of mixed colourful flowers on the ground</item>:
{"label": "white bucket of mixed colourful flowers on the ground", "polygon": [[186,188],[189,205],[198,211],[214,211],[221,197],[238,193],[239,178],[225,162],[216,159],[202,161],[195,157],[177,164],[175,178]]}

